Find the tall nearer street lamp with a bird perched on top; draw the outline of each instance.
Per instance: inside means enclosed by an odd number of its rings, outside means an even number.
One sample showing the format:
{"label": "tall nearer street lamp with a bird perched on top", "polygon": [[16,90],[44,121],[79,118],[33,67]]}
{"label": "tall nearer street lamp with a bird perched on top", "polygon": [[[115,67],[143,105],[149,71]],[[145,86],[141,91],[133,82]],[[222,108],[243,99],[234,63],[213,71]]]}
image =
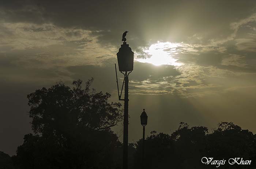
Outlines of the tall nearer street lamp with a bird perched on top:
{"label": "tall nearer street lamp with a bird perched on top", "polygon": [[[118,61],[118,68],[119,71],[124,75],[124,81],[121,89],[121,94],[119,95],[119,87],[118,87],[118,79],[117,79],[117,72],[116,72],[116,82],[117,82],[117,91],[118,91],[118,99],[120,101],[124,101],[124,132],[123,132],[123,169],[128,168],[128,76],[133,70],[133,59],[134,53],[132,49],[129,47],[126,41],[126,34],[128,31],[125,31],[123,34],[121,47],[117,52],[117,61]],[[116,67],[116,64],[115,64]],[[124,99],[121,99],[122,91],[124,87]]]}

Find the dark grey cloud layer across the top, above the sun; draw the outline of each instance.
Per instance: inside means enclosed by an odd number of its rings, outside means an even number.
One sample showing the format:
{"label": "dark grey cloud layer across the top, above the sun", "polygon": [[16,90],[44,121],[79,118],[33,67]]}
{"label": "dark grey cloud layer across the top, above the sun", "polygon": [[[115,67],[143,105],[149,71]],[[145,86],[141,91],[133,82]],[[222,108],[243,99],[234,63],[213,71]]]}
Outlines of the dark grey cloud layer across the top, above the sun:
{"label": "dark grey cloud layer across the top, above the sun", "polygon": [[[255,1],[11,1],[1,3],[2,18],[12,22],[54,23],[60,27],[81,27],[101,35],[99,42],[116,46],[129,31],[132,46],[148,40],[184,41],[194,34],[212,37],[231,34],[230,23],[247,17]],[[218,11],[218,12],[217,12]],[[203,15],[202,15],[203,13]]]}

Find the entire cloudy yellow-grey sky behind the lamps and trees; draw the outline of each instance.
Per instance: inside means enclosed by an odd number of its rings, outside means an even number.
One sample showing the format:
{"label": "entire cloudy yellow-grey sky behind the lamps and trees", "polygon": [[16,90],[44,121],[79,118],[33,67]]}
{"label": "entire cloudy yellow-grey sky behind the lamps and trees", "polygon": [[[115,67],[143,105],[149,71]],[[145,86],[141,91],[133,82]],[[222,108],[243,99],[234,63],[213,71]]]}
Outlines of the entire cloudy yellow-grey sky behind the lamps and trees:
{"label": "entire cloudy yellow-grey sky behind the lamps and trees", "polygon": [[[135,56],[129,142],[142,137],[143,109],[146,135],[222,121],[256,133],[255,0],[3,0],[0,151],[15,154],[31,132],[26,96],[36,89],[93,77],[118,101],[124,31]],[[113,128],[120,141],[122,127]]]}

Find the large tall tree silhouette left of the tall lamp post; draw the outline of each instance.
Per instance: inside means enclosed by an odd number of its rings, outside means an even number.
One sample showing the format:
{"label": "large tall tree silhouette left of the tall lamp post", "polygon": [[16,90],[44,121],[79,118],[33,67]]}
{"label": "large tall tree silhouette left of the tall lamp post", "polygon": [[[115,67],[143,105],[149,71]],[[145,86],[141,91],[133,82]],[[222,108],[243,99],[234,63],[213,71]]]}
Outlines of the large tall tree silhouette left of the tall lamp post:
{"label": "large tall tree silhouette left of the tall lamp post", "polygon": [[117,168],[121,143],[110,127],[122,120],[120,103],[90,89],[93,79],[57,83],[27,96],[33,134],[17,149],[20,169]]}

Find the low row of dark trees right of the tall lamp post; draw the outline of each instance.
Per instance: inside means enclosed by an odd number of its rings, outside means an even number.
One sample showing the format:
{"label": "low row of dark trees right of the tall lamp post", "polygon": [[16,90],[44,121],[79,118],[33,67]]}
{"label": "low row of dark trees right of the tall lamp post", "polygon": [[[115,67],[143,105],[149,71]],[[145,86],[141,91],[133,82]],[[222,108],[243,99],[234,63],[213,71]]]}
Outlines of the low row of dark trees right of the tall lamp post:
{"label": "low row of dark trees right of the tall lamp post", "polygon": [[[244,158],[252,160],[251,165],[225,165],[220,169],[251,169],[256,167],[256,135],[230,122],[222,122],[212,133],[207,127],[189,127],[181,122],[178,130],[171,135],[152,131],[145,140],[144,166],[147,169],[180,168],[180,169],[213,169],[216,165],[205,165],[202,157],[213,157],[214,160]],[[142,139],[136,144],[135,168],[141,168]]]}

